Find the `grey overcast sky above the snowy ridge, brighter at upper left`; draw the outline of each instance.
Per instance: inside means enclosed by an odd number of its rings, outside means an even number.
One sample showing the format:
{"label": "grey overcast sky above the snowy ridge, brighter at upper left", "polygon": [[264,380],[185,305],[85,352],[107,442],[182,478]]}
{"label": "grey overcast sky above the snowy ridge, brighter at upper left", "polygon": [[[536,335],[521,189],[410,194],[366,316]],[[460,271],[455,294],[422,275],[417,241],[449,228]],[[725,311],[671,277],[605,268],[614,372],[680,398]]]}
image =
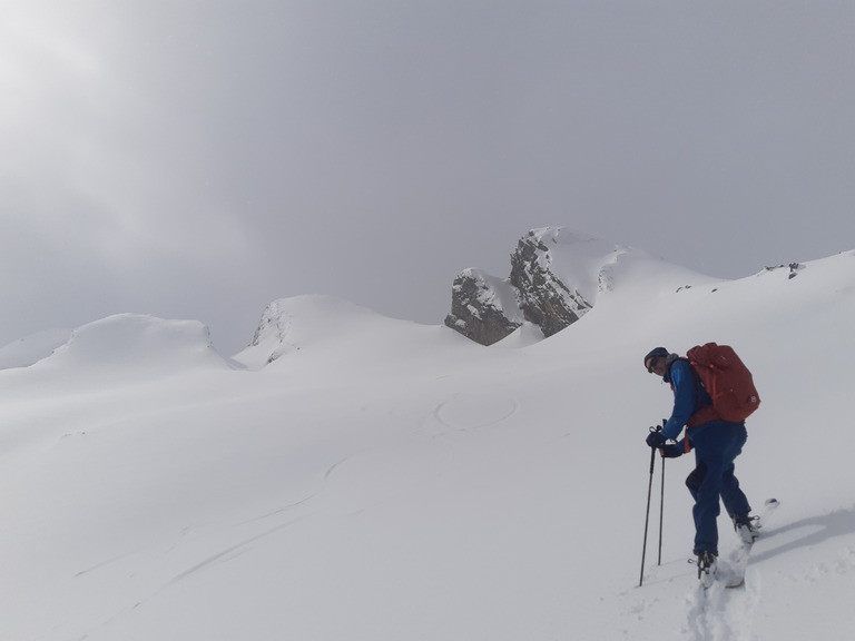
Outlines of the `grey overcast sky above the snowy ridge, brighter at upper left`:
{"label": "grey overcast sky above the snowy ridge, brighter at upper left", "polygon": [[851,0],[0,0],[0,345],[440,324],[548,225],[727,278],[855,249]]}

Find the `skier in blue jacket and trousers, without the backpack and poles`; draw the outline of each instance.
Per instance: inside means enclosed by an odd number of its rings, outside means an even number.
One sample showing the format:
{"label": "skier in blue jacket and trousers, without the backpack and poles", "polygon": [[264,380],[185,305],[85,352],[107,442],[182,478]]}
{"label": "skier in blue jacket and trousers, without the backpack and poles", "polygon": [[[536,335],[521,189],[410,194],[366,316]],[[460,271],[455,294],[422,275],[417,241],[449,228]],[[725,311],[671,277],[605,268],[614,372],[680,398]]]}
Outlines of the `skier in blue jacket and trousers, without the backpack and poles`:
{"label": "skier in blue jacket and trousers, without the backpack and poles", "polygon": [[[698,560],[698,575],[710,578],[715,575],[718,556],[719,497],[746,545],[750,545],[758,534],[748,500],[734,475],[734,460],[741,453],[748,436],[745,422],[728,423],[716,418],[711,413],[712,401],[686,358],[657,347],[645,356],[645,367],[670,383],[674,389],[671,416],[661,430],[651,431],[647,444],[658,448],[666,458],[695,450],[696,466],[686,479],[695,499],[694,554]],[[709,420],[710,414],[712,420]],[[684,438],[679,443],[668,443],[676,440],[687,424]]]}

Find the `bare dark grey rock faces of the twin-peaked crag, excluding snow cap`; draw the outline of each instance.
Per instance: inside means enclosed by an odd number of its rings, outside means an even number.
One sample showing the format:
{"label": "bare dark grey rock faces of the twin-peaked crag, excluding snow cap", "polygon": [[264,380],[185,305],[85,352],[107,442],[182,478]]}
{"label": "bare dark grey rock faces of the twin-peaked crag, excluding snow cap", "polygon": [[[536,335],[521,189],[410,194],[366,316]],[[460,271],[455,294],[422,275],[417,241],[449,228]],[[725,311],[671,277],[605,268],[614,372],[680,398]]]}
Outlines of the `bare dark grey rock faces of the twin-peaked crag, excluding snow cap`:
{"label": "bare dark grey rock faces of the twin-peaked crag, excluding snow cap", "polygon": [[552,336],[576,323],[593,305],[552,269],[552,249],[544,238],[556,243],[556,250],[567,252],[560,235],[560,228],[529,231],[511,254],[511,275],[507,279],[479,269],[459,274],[445,325],[481,345],[492,345],[523,320],[540,327],[543,336]]}

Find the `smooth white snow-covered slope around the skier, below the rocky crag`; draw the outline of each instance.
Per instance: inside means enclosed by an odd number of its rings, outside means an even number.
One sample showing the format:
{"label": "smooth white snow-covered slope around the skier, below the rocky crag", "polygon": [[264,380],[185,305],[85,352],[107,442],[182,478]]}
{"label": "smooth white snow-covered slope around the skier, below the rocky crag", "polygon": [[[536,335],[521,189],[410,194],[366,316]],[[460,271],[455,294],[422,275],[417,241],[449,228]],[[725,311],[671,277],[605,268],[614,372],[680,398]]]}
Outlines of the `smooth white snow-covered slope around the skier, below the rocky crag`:
{"label": "smooth white snow-covered slope around the skier, below the rocky crag", "polygon": [[[198,323],[120,315],[0,372],[0,638],[852,639],[855,252],[728,282],[609,269],[544,341],[307,296],[234,359]],[[737,473],[780,507],[746,586],[704,592],[690,456],[667,462],[657,565],[657,462],[639,588],[643,440],[671,404],[642,356],[708,341],[755,374]]]}

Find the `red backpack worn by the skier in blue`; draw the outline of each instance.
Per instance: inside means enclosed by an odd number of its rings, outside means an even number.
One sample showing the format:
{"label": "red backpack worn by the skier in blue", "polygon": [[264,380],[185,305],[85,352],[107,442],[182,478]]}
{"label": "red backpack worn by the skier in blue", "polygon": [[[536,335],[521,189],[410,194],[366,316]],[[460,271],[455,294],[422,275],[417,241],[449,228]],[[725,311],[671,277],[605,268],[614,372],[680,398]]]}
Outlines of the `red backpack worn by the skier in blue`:
{"label": "red backpack worn by the skier in blue", "polygon": [[[733,347],[707,343],[689,349],[686,357],[712,398],[712,410],[719,417],[729,423],[741,423],[759,407],[760,396],[751,373]],[[692,415],[690,425],[712,420],[708,414],[698,414],[704,411]]]}

